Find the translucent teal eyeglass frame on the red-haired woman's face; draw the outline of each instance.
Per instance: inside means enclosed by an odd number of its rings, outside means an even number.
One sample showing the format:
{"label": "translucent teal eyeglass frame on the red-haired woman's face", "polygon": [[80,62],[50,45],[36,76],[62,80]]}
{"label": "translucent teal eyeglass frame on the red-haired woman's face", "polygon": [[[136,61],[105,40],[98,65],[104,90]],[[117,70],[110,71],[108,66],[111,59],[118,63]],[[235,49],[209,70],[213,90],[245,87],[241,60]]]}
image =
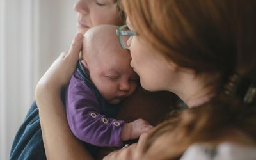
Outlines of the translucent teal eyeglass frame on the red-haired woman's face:
{"label": "translucent teal eyeglass frame on the red-haired woman's face", "polygon": [[123,49],[128,49],[131,44],[129,45],[125,45],[123,40],[122,40],[122,36],[135,36],[137,35],[136,31],[131,31],[131,30],[125,30],[125,31],[122,31],[122,29],[124,29],[125,27],[127,27],[127,24],[124,24],[123,26],[119,26],[117,29],[116,29],[116,35],[118,36],[118,40],[120,42],[120,45],[122,46]]}

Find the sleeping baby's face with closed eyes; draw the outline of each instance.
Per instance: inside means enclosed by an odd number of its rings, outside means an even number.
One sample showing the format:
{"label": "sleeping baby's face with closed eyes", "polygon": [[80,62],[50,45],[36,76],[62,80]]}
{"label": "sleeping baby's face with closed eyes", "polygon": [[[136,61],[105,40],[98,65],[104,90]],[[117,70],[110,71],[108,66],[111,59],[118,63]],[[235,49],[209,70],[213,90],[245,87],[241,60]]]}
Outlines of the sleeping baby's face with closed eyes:
{"label": "sleeping baby's face with closed eyes", "polygon": [[105,52],[88,68],[90,79],[109,104],[118,104],[136,90],[139,77],[130,61],[129,51]]}

